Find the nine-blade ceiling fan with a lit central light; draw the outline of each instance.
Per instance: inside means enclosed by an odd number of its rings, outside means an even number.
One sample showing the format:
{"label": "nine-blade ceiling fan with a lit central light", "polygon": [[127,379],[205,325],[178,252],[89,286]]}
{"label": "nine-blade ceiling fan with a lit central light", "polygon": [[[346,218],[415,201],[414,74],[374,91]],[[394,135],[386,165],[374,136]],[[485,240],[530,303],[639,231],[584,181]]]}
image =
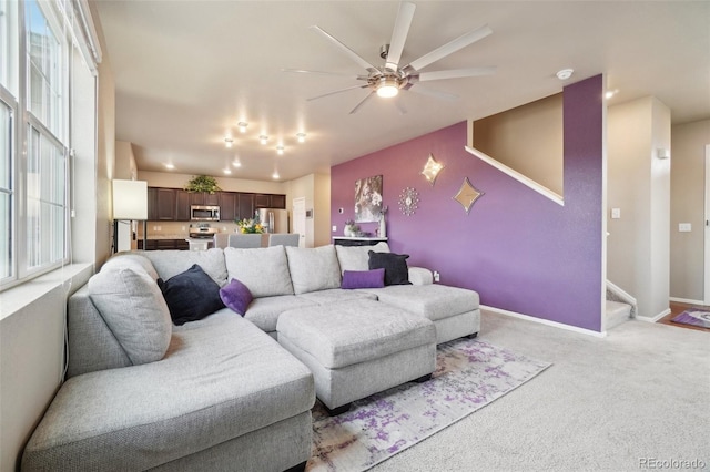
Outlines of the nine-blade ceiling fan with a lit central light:
{"label": "nine-blade ceiling fan with a lit central light", "polygon": [[[413,90],[415,92],[437,96],[439,99],[456,100],[457,96],[454,94],[434,91],[417,84],[419,82],[428,82],[434,80],[460,79],[489,75],[495,73],[496,68],[493,66],[422,72],[422,70],[429,64],[433,64],[434,62],[491,34],[493,30],[487,24],[462,34],[460,37],[430,51],[429,53],[424,54],[419,59],[409,62],[407,65],[399,66],[399,60],[402,58],[402,52],[404,51],[404,44],[409,32],[409,27],[412,25],[412,20],[414,19],[415,9],[416,6],[414,3],[403,2],[399,4],[399,11],[397,13],[397,19],[395,20],[395,28],[392,32],[392,40],[389,41],[389,44],[385,44],[381,48],[379,55],[385,60],[385,64],[382,66],[373,65],[322,28],[317,25],[311,27],[313,31],[321,34],[323,38],[329,41],[331,44],[335,45],[341,52],[345,53],[351,60],[355,61],[358,65],[364,68],[367,71],[366,75],[352,75],[297,69],[284,69],[283,71],[321,75],[349,76],[352,79],[365,82],[364,84],[334,90],[332,92],[307,99],[308,101],[312,101],[322,99],[324,96],[334,95],[336,93],[346,92],[348,90],[369,89],[371,92],[351,111],[351,114],[356,113],[361,109],[361,106],[363,106],[375,94],[382,98],[392,98],[397,95],[400,90]],[[415,85],[417,86],[415,88]],[[396,102],[395,104],[399,109],[400,113],[406,113],[402,105]]]}

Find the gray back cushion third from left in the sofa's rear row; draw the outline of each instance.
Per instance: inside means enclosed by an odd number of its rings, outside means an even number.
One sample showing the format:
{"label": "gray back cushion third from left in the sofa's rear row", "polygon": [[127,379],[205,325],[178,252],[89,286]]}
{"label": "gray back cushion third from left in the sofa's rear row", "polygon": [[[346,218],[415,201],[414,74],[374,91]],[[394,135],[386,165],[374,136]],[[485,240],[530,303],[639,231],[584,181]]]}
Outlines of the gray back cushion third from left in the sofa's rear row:
{"label": "gray back cushion third from left in the sofa's rear row", "polygon": [[286,255],[296,295],[341,286],[341,267],[333,245],[315,248],[288,246]]}

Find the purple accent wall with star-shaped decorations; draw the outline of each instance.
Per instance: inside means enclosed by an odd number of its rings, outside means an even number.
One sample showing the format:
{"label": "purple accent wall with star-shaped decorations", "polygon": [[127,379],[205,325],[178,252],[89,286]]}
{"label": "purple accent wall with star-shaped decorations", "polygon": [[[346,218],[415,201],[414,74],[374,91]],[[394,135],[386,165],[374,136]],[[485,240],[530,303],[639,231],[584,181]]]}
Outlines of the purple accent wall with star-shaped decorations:
{"label": "purple accent wall with star-shaped decorations", "polygon": [[[565,206],[467,153],[466,126],[458,123],[332,167],[336,235],[354,217],[355,181],[382,174],[389,246],[409,254],[410,265],[439,270],[443,284],[478,291],[484,305],[600,331],[602,76],[564,90]],[[429,153],[445,165],[434,186],[420,175]],[[468,215],[453,199],[464,177],[484,193]],[[407,186],[419,193],[412,216],[397,205]],[[361,228],[374,233],[376,224]]]}

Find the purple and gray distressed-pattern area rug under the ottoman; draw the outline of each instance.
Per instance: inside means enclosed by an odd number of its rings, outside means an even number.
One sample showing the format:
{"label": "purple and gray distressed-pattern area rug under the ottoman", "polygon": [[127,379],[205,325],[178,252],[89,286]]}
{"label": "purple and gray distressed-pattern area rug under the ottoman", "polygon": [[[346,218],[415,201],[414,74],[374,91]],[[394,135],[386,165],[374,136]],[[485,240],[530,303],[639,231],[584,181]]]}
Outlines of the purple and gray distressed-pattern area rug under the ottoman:
{"label": "purple and gray distressed-pattern area rug under the ottoman", "polygon": [[432,380],[405,383],[328,417],[313,409],[313,456],[306,470],[364,471],[449,427],[551,366],[477,339],[438,347]]}

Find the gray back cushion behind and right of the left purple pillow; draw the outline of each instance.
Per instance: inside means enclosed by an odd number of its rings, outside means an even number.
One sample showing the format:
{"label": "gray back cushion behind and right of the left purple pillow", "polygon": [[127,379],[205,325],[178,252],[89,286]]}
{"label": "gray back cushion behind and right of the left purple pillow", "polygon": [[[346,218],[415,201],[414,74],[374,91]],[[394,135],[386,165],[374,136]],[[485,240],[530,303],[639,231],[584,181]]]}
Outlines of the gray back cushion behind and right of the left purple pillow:
{"label": "gray back cushion behind and right of the left purple pillow", "polygon": [[248,287],[254,298],[293,295],[288,260],[283,246],[240,249],[224,248],[230,279]]}

